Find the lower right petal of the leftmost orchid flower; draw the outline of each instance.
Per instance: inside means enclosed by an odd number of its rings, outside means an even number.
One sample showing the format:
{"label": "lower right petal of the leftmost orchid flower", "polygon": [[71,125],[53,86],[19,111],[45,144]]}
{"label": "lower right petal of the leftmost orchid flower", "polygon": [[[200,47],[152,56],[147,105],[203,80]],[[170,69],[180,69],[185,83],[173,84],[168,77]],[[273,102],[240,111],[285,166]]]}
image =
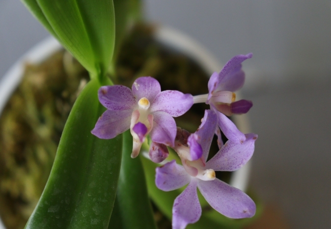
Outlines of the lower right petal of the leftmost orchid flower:
{"label": "lower right petal of the leftmost orchid flower", "polygon": [[174,146],[176,133],[177,127],[173,117],[162,111],[153,113],[153,129],[149,133],[152,141]]}

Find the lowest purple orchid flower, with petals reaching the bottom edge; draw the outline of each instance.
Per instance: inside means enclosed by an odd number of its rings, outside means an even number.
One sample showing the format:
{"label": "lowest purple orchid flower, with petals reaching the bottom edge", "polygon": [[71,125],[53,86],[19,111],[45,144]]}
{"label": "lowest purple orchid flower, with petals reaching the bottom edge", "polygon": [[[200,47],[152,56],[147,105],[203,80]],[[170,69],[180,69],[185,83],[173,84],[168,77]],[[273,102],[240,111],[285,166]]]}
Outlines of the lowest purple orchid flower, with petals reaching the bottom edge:
{"label": "lowest purple orchid flower, with petals reaching the bottom edge", "polygon": [[[228,140],[213,158],[206,161],[212,137],[218,128],[216,123],[215,112],[206,110],[202,124],[194,133],[196,136],[188,137],[187,146],[185,142],[175,143],[174,149],[183,165],[178,165],[173,160],[156,168],[155,183],[159,189],[172,191],[188,184],[175,199],[173,229],[183,229],[188,223],[199,220],[202,210],[197,187],[209,205],[227,217],[237,219],[252,217],[255,214],[256,205],[253,200],[241,190],[216,179],[215,171],[234,171],[242,167],[253,155],[257,135],[246,134],[245,141],[239,144]],[[190,140],[191,147],[188,146]],[[199,157],[198,155],[201,155],[199,159],[192,160],[195,156]]]}

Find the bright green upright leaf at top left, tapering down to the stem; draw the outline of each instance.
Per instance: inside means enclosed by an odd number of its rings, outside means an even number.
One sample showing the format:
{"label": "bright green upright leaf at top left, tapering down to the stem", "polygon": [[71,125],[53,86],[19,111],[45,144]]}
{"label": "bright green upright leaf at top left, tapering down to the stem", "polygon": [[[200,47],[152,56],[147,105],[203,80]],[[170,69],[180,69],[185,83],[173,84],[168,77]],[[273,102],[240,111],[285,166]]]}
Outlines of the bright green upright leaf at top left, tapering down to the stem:
{"label": "bright green upright leaf at top left, tapering down to the stem", "polygon": [[103,77],[115,45],[111,0],[22,0],[92,77]]}

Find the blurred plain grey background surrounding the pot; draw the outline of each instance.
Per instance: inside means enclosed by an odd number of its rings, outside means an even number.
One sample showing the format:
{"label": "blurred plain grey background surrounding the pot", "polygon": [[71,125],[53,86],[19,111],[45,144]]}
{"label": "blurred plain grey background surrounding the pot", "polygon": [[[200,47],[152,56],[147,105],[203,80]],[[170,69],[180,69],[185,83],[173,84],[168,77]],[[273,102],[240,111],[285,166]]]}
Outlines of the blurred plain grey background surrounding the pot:
{"label": "blurred plain grey background surrounding the pot", "polygon": [[[251,188],[284,221],[274,228],[331,228],[331,1],[146,0],[145,13],[222,63],[253,52],[241,92],[259,135]],[[48,36],[20,1],[0,0],[0,77]]]}

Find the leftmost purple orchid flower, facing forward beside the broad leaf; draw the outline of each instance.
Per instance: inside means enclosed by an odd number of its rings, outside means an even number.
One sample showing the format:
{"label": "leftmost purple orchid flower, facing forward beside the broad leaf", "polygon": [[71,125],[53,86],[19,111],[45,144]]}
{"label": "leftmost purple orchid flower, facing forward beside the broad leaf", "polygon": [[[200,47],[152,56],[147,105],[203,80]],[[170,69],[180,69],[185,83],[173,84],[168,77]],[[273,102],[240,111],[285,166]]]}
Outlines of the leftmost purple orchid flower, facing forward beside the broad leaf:
{"label": "leftmost purple orchid flower, facing forward beside the broad leaf", "polygon": [[100,103],[107,108],[92,134],[110,139],[130,129],[133,136],[131,157],[139,154],[147,134],[152,141],[174,146],[176,123],[193,104],[190,94],[163,91],[152,77],[137,78],[132,90],[123,85],[103,86],[98,91]]}

